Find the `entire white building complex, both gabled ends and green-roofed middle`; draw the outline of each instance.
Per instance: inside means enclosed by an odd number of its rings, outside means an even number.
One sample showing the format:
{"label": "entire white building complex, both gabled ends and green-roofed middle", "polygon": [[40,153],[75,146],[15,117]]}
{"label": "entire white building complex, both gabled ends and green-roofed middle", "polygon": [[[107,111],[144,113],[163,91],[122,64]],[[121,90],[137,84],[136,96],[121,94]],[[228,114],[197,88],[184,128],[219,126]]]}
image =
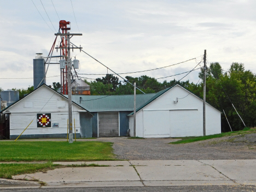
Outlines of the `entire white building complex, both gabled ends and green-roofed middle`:
{"label": "entire white building complex, both gabled ends and green-roofed middle", "polygon": [[[129,129],[133,136],[133,95],[72,97],[73,133],[75,123],[77,137],[126,136]],[[203,135],[203,101],[180,85],[137,95],[136,104],[138,137]],[[67,137],[68,99],[45,84],[1,114],[6,138],[16,139],[26,127],[20,138]],[[221,132],[220,114],[206,103],[206,135]]]}

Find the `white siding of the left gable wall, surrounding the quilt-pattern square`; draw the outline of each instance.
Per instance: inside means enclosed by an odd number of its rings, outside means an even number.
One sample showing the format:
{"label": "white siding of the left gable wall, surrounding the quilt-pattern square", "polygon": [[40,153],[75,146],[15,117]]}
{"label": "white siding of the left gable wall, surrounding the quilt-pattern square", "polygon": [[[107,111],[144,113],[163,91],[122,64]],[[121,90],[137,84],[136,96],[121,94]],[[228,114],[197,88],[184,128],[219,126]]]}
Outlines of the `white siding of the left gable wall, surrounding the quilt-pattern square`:
{"label": "white siding of the left gable wall, surrounding the quilt-pattern square", "polygon": [[[64,108],[59,108],[59,104],[66,102]],[[33,102],[32,108],[26,108],[25,102]],[[63,104],[62,104],[63,106]],[[62,107],[61,106],[61,107]],[[80,133],[80,119],[77,106],[73,105],[73,132],[74,119],[75,129]],[[10,111],[10,135],[20,135],[28,126],[23,135],[38,135],[38,134],[57,134],[67,133],[68,105],[67,100],[57,94],[55,91],[42,86],[32,94],[28,95],[8,109]],[[51,113],[51,125],[59,123],[59,127],[37,127],[37,113]]]}

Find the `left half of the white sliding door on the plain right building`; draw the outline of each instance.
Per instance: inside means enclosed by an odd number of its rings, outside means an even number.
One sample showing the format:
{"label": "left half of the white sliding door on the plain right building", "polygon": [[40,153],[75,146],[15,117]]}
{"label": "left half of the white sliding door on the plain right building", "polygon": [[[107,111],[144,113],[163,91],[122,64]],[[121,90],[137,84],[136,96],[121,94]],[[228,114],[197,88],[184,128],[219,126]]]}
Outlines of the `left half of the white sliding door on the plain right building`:
{"label": "left half of the white sliding door on the plain right building", "polygon": [[144,137],[170,137],[168,110],[143,111]]}

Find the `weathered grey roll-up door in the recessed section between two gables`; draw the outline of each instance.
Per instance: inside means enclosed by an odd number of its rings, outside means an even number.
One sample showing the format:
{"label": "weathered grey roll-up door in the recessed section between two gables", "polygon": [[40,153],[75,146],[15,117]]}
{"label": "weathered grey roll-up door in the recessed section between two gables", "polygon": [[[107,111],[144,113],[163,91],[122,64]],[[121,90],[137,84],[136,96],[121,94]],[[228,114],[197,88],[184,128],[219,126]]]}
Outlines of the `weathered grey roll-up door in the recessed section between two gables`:
{"label": "weathered grey roll-up door in the recessed section between two gables", "polygon": [[98,113],[98,137],[119,136],[119,113]]}

